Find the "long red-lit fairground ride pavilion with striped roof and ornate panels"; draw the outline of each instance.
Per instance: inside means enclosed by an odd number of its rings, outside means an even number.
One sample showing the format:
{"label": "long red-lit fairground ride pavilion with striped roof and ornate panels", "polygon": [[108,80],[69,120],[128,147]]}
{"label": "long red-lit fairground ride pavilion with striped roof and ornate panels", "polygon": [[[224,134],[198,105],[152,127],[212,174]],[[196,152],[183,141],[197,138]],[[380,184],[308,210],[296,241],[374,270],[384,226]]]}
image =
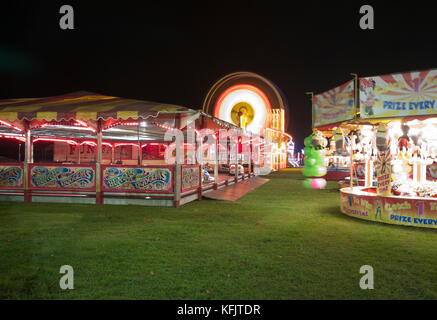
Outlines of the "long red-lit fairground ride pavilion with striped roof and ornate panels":
{"label": "long red-lit fairground ride pavilion with striped roof and ornate panels", "polygon": [[0,100],[0,199],[179,206],[252,177],[262,144],[176,105],[88,92]]}

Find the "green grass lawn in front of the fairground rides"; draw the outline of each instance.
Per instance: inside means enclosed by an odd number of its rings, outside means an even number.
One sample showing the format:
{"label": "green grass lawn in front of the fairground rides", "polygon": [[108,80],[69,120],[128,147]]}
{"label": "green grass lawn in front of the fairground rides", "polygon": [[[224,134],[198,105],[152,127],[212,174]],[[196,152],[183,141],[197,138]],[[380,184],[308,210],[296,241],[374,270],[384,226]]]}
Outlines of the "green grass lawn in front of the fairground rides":
{"label": "green grass lawn in front of the fairground rides", "polygon": [[[295,170],[268,178],[178,209],[0,202],[0,298],[437,298],[435,230],[345,216],[336,183],[307,190]],[[374,290],[359,287],[366,264]]]}

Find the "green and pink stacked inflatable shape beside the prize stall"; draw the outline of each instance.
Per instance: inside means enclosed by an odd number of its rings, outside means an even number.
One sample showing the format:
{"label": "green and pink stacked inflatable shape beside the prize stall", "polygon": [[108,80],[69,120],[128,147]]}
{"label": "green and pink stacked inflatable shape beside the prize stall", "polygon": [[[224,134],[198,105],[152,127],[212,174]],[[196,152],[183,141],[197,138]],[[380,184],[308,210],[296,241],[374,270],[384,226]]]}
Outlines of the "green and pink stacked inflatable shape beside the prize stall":
{"label": "green and pink stacked inflatable shape beside the prize stall", "polygon": [[[316,136],[316,139],[313,139],[313,135],[309,135],[304,140],[305,166],[303,175],[308,177],[303,182],[305,188],[323,189],[326,186],[326,180],[320,178],[326,175],[326,167],[323,161],[326,143],[326,139],[322,141],[319,135]],[[322,147],[322,145],[324,146]]]}

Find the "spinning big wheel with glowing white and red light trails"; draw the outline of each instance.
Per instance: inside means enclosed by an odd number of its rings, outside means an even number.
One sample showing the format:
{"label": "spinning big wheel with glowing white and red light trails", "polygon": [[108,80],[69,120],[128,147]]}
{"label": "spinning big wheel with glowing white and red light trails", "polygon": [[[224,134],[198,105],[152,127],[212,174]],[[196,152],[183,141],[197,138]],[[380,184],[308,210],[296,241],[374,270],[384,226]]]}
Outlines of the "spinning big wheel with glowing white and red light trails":
{"label": "spinning big wheel with glowing white and red light trails", "polygon": [[292,137],[285,132],[286,109],[279,88],[252,72],[224,76],[211,87],[203,101],[205,113],[270,141],[269,162],[274,170],[287,166],[287,143]]}

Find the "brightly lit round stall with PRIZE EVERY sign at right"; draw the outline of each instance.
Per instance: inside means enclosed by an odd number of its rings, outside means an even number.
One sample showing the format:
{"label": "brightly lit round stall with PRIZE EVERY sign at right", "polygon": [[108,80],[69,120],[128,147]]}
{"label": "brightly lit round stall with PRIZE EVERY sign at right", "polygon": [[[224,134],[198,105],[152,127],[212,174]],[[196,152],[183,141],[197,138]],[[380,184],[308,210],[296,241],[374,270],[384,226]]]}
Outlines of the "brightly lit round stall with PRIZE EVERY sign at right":
{"label": "brightly lit round stall with PRIZE EVERY sign at right", "polygon": [[341,211],[437,228],[437,70],[360,78],[358,95],[355,116],[331,128],[350,159]]}

